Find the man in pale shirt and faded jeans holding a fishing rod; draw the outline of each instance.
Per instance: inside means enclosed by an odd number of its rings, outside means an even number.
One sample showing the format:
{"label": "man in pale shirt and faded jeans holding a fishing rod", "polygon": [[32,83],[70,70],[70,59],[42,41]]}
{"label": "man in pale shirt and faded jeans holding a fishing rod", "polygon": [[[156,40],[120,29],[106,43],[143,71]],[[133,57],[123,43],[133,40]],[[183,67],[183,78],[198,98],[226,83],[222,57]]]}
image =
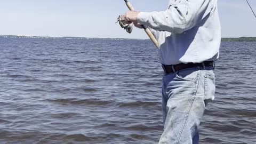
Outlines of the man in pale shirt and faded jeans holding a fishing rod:
{"label": "man in pale shirt and faded jeans holding a fishing rod", "polygon": [[170,0],[161,12],[129,11],[121,20],[148,26],[158,40],[164,132],[159,143],[198,143],[205,106],[214,100],[221,27],[218,0]]}

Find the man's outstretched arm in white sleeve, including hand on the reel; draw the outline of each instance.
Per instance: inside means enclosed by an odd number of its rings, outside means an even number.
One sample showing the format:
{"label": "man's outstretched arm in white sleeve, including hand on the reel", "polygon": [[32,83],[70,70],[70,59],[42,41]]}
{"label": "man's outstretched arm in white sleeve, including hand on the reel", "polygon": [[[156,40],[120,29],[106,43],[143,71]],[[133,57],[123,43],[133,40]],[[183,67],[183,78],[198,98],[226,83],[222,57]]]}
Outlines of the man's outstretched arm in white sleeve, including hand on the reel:
{"label": "man's outstretched arm in white sleeve, including hand on the reel", "polygon": [[140,23],[158,31],[183,33],[193,28],[213,9],[213,0],[183,0],[162,12],[127,12],[124,20]]}

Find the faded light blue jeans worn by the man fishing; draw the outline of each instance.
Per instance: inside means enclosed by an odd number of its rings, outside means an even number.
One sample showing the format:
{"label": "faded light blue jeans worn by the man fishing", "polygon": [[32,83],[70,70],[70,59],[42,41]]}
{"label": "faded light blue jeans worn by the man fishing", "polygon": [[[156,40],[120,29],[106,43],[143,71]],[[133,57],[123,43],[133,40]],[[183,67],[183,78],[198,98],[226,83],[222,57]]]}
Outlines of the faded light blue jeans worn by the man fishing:
{"label": "faded light blue jeans worn by the man fishing", "polygon": [[187,68],[163,76],[164,132],[159,144],[199,143],[198,126],[214,100],[213,67]]}

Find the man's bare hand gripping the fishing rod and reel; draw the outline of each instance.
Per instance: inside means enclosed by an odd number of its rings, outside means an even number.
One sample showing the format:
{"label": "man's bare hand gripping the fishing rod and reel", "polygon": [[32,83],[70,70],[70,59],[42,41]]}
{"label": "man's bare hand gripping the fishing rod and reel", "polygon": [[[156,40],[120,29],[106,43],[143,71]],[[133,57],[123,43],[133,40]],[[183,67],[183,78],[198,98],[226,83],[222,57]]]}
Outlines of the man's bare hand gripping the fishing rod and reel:
{"label": "man's bare hand gripping the fishing rod and reel", "polygon": [[121,20],[126,24],[133,23],[135,27],[142,28],[141,25],[137,21],[138,14],[140,12],[129,11],[122,15]]}

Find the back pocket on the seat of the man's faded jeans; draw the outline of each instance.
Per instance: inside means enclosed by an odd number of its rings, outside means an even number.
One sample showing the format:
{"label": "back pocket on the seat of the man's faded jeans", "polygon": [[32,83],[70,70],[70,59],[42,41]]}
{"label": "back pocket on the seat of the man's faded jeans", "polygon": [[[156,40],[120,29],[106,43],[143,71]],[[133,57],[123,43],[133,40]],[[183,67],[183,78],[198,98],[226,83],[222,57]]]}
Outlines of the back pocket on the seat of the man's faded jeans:
{"label": "back pocket on the seat of the man's faded jeans", "polygon": [[206,104],[214,100],[215,90],[215,76],[204,75],[204,101]]}

